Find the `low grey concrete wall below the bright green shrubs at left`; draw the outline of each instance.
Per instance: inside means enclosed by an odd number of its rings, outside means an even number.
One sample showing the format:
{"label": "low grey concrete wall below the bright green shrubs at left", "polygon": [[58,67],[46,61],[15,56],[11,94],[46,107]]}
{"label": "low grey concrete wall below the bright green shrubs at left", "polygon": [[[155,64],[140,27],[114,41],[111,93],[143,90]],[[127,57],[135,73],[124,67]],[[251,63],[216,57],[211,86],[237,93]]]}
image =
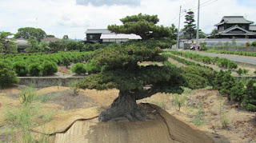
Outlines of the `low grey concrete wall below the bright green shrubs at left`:
{"label": "low grey concrete wall below the bright green shrubs at left", "polygon": [[33,84],[36,87],[44,88],[56,85],[69,86],[72,80],[81,80],[81,77],[18,77],[19,85]]}

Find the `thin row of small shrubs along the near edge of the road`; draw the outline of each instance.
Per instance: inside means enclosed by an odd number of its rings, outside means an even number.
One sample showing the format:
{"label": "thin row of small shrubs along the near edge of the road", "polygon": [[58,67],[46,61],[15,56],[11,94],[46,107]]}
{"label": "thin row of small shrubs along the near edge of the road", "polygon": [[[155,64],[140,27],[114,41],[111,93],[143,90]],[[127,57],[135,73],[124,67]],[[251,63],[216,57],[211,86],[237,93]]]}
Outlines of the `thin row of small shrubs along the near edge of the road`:
{"label": "thin row of small shrubs along the near edge of the road", "polygon": [[170,52],[171,54],[180,55],[185,58],[193,59],[194,61],[197,61],[197,62],[218,65],[221,68],[227,68],[229,70],[234,70],[238,68],[238,64],[236,62],[230,61],[227,58],[219,58],[219,57],[210,58],[209,56],[203,56],[201,54],[194,54],[191,52],[180,52],[176,50],[172,50],[168,52]]}

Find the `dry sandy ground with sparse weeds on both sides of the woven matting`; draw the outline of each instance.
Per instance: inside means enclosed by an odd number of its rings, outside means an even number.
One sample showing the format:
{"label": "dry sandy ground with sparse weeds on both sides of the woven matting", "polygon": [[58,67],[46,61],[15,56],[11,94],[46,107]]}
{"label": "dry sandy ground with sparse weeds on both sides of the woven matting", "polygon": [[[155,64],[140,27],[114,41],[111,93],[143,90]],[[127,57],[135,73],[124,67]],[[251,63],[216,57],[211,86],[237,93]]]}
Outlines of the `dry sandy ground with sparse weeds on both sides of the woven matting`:
{"label": "dry sandy ground with sparse weeds on both sides of the woven matting", "polygon": [[[22,98],[23,93],[31,98]],[[69,87],[34,89],[16,85],[2,89],[0,95],[0,142],[53,142],[54,135],[42,135],[30,129],[46,124],[57,115],[98,105],[109,106],[118,97],[118,90],[79,89],[75,95]],[[176,104],[177,97],[186,99],[180,108]],[[215,89],[185,89],[182,95],[157,93],[137,102],[153,103],[166,109],[178,120],[202,130],[215,142],[256,141],[255,114],[239,110],[237,103],[227,102]]]}

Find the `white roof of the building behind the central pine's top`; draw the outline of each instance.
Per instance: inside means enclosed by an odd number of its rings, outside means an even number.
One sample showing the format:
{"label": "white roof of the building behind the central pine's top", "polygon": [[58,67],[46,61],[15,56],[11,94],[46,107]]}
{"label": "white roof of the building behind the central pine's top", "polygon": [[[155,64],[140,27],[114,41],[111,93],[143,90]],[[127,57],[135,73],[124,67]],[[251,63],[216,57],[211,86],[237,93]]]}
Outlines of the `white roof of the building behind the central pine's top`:
{"label": "white roof of the building behind the central pine's top", "polygon": [[142,39],[136,34],[102,34],[101,39]]}

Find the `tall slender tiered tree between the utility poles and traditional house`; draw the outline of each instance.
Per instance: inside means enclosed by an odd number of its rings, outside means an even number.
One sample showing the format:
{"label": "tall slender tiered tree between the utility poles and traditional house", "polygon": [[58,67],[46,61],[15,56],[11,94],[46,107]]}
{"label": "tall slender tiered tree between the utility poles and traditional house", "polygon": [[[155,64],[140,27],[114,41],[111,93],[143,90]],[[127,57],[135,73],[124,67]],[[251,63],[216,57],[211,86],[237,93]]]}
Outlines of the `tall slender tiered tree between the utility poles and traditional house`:
{"label": "tall slender tiered tree between the utility poles and traditional house", "polygon": [[194,24],[194,12],[188,11],[185,15],[186,21],[184,22],[186,25],[184,27],[185,35],[189,35],[189,39],[195,38],[196,35],[196,25]]}

